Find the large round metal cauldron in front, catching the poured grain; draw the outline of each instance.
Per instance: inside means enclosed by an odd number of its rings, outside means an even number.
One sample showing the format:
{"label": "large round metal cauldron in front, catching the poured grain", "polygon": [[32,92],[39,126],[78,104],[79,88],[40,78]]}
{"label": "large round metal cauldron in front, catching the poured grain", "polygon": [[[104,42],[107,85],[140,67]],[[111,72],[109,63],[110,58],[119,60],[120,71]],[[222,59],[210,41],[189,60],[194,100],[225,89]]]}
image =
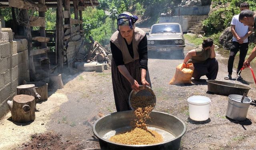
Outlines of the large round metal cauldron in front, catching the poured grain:
{"label": "large round metal cauldron in front, catching the poured grain", "polygon": [[99,138],[101,150],[178,150],[181,137],[186,132],[185,123],[163,112],[152,111],[148,126],[163,136],[164,142],[151,145],[126,145],[109,141],[115,134],[130,129],[134,119],[133,111],[115,112],[98,119],[93,125],[93,132]]}

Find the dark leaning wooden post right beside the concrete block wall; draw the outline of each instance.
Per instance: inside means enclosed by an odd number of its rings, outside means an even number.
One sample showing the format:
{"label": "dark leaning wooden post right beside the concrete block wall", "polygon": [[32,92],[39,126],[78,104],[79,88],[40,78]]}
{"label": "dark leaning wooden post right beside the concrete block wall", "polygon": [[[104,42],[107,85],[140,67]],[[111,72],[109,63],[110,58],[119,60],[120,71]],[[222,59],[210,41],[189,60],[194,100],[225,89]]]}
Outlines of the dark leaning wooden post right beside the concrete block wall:
{"label": "dark leaning wooden post right beside the concrete block wall", "polygon": [[28,55],[29,55],[29,73],[30,73],[30,80],[35,81],[36,80],[36,70],[34,67],[34,60],[33,56],[30,56],[30,50],[32,50],[32,35],[30,30],[30,24],[29,24],[29,15],[28,10],[21,9],[21,18],[22,18],[22,26],[24,26],[24,36],[26,36],[26,39],[28,40]]}

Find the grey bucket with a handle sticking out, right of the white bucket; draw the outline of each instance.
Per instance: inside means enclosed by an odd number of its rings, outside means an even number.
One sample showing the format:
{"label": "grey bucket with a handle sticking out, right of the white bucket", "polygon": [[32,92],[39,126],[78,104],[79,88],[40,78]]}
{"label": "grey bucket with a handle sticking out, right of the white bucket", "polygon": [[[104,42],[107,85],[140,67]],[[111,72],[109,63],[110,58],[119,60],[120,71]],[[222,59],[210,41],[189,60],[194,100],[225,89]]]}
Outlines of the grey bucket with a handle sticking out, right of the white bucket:
{"label": "grey bucket with a handle sticking out, right of the white bucket", "polygon": [[243,121],[246,120],[248,108],[252,100],[248,97],[244,97],[244,101],[241,102],[242,95],[231,94],[228,96],[228,107],[226,116],[233,120]]}

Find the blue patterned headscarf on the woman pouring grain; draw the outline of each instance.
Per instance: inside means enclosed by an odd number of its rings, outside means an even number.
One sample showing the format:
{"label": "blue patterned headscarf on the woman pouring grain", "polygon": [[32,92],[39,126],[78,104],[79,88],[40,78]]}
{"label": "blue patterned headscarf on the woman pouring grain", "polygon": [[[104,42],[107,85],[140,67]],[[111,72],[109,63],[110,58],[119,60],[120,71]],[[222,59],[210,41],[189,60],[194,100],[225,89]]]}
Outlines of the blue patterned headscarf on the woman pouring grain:
{"label": "blue patterned headscarf on the woman pouring grain", "polygon": [[[132,15],[130,12],[123,12],[118,16],[117,26],[129,26],[130,29],[132,25],[138,20],[137,16]],[[119,31],[119,29],[118,29]]]}

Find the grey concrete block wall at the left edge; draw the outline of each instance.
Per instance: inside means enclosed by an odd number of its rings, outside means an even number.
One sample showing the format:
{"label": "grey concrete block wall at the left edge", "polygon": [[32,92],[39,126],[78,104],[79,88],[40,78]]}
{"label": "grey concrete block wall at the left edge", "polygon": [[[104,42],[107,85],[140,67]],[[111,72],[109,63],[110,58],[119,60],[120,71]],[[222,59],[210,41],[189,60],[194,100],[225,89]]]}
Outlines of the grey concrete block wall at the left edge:
{"label": "grey concrete block wall at the left edge", "polygon": [[8,112],[7,101],[17,94],[16,87],[29,81],[26,39],[13,40],[10,28],[0,24],[0,118]]}

